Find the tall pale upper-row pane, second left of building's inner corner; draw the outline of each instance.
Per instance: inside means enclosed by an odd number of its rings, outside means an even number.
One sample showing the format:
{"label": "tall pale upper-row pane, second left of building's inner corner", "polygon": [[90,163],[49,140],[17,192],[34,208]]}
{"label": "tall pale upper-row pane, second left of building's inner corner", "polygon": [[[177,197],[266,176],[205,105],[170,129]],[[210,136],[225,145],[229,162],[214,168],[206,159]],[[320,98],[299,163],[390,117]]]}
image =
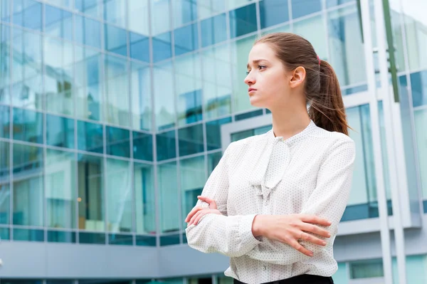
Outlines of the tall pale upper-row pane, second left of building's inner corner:
{"label": "tall pale upper-row pane, second left of building's inner corner", "polygon": [[105,122],[130,127],[128,62],[106,55],[104,68]]}

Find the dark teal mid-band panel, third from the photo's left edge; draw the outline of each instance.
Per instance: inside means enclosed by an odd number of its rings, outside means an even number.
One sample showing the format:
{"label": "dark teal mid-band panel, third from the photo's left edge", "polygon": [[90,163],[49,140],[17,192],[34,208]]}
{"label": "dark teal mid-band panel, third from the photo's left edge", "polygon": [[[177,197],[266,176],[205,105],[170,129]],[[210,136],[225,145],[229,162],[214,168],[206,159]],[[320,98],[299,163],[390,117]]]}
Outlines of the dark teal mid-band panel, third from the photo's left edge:
{"label": "dark teal mid-band panel, third from the photo's left edge", "polygon": [[74,120],[46,115],[46,144],[74,148]]}

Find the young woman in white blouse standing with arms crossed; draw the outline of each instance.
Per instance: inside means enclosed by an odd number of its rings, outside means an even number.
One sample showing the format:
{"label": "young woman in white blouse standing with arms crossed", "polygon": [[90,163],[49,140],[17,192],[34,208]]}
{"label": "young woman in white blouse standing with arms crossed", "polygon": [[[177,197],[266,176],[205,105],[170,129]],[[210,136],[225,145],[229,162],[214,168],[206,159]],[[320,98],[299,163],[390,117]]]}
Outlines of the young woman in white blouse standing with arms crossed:
{"label": "young woman in white blouse standing with arms crossed", "polygon": [[337,76],[292,33],[263,36],[248,59],[251,105],[273,129],[227,147],[186,217],[189,246],[230,256],[234,283],[333,283],[355,152]]}

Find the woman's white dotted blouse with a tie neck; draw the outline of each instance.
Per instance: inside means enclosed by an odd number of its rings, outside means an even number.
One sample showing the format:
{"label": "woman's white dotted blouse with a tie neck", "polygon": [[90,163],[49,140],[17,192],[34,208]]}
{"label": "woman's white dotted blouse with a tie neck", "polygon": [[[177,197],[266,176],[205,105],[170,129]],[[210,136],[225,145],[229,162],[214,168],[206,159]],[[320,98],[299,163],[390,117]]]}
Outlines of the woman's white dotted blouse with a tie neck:
{"label": "woman's white dotted blouse with a tie neck", "polygon": [[[206,214],[186,228],[191,248],[231,257],[225,275],[243,283],[266,283],[301,274],[337,271],[332,245],[352,184],[354,142],[310,122],[283,140],[273,130],[231,143],[209,177],[202,196],[214,199],[223,216]],[[208,206],[198,201],[196,206]],[[300,243],[309,257],[288,244],[255,238],[256,214],[315,214],[332,222],[326,246]]]}

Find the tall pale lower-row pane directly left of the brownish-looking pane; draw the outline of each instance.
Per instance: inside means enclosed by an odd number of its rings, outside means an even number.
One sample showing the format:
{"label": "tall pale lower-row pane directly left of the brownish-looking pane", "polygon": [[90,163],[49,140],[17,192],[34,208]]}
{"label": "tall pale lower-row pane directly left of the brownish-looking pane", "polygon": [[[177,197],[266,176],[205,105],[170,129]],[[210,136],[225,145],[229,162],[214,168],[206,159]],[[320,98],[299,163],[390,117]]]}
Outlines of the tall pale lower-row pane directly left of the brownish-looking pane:
{"label": "tall pale lower-row pane directly left of the brownish-looking pane", "polygon": [[75,228],[75,154],[47,149],[45,171],[46,225],[51,228]]}

